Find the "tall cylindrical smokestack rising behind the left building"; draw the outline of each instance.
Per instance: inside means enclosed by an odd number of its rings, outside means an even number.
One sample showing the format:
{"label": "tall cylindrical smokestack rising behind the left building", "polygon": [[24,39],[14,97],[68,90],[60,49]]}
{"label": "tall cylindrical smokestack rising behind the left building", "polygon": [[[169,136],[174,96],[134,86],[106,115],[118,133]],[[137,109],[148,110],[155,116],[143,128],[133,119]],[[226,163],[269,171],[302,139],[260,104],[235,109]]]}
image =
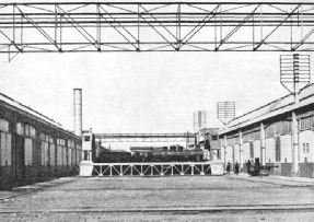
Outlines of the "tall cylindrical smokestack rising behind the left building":
{"label": "tall cylindrical smokestack rising behind the left building", "polygon": [[73,90],[74,98],[74,133],[82,137],[82,89]]}

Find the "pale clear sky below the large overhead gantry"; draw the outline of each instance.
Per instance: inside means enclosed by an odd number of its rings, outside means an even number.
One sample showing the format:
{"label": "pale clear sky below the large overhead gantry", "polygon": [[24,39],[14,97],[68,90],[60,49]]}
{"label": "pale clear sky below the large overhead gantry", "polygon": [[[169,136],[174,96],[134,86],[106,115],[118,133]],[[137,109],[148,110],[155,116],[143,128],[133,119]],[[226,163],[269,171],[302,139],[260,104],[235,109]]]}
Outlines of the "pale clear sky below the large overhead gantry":
{"label": "pale clear sky below the large overhead gantry", "polygon": [[[48,0],[47,0],[48,1]],[[11,1],[7,1],[11,2]],[[19,1],[26,2],[26,1]],[[193,113],[221,127],[217,103],[236,116],[289,94],[282,52],[0,55],[0,92],[73,129],[73,89],[83,92],[83,129],[96,133],[193,131]],[[314,55],[311,55],[313,63]]]}

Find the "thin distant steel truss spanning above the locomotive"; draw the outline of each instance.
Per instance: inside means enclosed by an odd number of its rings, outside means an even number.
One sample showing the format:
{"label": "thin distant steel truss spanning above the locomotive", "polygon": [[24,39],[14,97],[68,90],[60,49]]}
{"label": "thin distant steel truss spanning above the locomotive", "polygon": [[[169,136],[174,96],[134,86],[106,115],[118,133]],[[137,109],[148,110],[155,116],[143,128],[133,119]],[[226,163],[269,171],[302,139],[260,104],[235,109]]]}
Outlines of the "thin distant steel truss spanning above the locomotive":
{"label": "thin distant steel truss spanning above the locomotive", "polygon": [[195,138],[195,133],[95,133],[102,142],[194,142]]}

